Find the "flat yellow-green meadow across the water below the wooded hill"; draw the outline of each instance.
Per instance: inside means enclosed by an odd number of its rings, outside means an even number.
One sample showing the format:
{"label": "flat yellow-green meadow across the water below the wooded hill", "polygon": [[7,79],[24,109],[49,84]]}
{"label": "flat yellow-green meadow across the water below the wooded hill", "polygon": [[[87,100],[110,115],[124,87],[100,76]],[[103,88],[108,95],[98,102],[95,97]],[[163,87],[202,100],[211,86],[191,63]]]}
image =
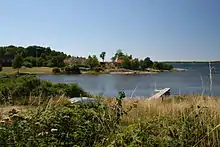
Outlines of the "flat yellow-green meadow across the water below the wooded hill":
{"label": "flat yellow-green meadow across the water below the wooded hill", "polygon": [[[32,68],[20,68],[20,73],[26,74],[52,74],[51,67],[32,67]],[[17,69],[13,69],[12,67],[3,67],[3,70],[0,74],[16,74]]]}

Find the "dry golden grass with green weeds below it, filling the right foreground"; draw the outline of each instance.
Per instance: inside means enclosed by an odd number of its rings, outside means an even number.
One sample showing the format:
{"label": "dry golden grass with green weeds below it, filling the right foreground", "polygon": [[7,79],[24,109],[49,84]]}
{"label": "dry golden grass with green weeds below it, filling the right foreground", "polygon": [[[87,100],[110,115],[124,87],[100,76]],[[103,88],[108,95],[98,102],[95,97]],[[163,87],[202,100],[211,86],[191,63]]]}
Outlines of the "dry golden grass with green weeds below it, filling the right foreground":
{"label": "dry golden grass with green weeds below it, filling the right foreground", "polygon": [[112,135],[108,143],[115,146],[220,146],[219,105],[219,99],[203,96],[172,96],[163,102],[124,100],[123,108],[130,111],[123,115],[121,130]]}

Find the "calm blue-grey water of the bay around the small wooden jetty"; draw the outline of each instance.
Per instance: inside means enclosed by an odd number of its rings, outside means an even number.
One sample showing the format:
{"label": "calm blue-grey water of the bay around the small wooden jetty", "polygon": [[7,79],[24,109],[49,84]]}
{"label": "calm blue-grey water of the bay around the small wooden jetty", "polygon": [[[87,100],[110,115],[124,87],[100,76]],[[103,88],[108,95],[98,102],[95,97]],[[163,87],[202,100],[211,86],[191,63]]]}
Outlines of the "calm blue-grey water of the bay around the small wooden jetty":
{"label": "calm blue-grey water of the bay around the small wooden jetty", "polygon": [[[185,72],[164,72],[149,75],[40,75],[40,79],[54,83],[77,83],[87,92],[116,96],[124,90],[127,96],[151,96],[155,87],[171,88],[172,94],[210,94],[208,64],[173,64],[187,68]],[[220,96],[220,64],[213,64],[212,93]]]}

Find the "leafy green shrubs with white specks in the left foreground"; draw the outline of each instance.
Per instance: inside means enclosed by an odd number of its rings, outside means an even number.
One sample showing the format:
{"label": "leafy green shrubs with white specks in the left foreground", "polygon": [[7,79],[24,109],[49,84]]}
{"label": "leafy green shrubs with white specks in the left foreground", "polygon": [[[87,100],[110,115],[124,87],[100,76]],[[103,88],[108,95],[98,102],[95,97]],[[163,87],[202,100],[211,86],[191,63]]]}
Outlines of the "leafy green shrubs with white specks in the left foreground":
{"label": "leafy green shrubs with white specks in the left foreground", "polygon": [[[2,146],[94,146],[115,129],[106,105],[38,107],[0,124]],[[15,117],[18,116],[18,117]]]}

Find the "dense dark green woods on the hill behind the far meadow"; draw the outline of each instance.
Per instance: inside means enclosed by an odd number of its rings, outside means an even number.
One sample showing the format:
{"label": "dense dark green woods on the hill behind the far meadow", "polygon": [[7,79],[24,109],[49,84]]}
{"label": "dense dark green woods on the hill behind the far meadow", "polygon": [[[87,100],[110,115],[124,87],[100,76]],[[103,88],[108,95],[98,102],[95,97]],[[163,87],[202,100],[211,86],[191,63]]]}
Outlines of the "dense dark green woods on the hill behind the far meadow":
{"label": "dense dark green woods on the hill behind the far meadow", "polygon": [[[0,58],[10,60],[11,57],[13,59],[17,54],[20,54],[24,58],[24,61],[30,62],[34,67],[62,67],[64,66],[63,60],[68,57],[63,52],[51,50],[49,47],[29,46],[24,48],[12,45],[0,47]],[[12,63],[3,62],[3,66],[12,66]]]}

